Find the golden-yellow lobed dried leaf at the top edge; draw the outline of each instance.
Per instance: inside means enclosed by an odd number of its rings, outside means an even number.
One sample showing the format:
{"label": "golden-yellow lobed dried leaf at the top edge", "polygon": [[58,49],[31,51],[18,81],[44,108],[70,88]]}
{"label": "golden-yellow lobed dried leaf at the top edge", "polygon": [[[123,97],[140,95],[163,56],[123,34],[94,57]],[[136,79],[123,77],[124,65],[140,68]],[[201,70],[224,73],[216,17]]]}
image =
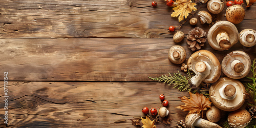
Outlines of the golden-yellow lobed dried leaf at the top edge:
{"label": "golden-yellow lobed dried leaf at the top edge", "polygon": [[191,0],[177,0],[174,3],[175,8],[173,8],[174,12],[172,13],[172,17],[179,16],[179,22],[185,18],[187,18],[188,14],[192,11],[196,11],[195,7],[197,4],[192,3]]}

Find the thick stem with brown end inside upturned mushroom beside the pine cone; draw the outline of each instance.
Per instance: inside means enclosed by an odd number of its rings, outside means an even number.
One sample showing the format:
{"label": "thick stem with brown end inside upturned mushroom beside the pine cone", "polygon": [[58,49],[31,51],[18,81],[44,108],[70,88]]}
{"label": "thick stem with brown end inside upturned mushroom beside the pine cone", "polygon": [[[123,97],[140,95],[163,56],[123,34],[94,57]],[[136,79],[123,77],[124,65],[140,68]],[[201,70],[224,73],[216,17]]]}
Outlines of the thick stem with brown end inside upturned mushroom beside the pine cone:
{"label": "thick stem with brown end inside upturned mushroom beside the pine cone", "polygon": [[218,45],[224,50],[227,50],[231,47],[229,36],[226,30],[220,30],[216,36],[216,40]]}

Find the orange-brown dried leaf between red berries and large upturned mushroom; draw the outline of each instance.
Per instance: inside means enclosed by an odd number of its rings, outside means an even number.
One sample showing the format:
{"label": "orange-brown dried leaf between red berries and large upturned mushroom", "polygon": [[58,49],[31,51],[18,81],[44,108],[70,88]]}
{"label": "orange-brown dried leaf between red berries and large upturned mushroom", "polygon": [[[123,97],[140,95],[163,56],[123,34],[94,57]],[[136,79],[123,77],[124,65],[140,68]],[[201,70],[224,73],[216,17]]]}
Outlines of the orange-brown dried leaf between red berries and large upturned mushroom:
{"label": "orange-brown dried leaf between red berries and large upturned mushroom", "polygon": [[179,105],[176,106],[176,108],[182,109],[183,111],[189,111],[190,113],[200,113],[201,111],[207,110],[207,108],[210,108],[211,102],[209,101],[209,98],[206,98],[202,94],[196,93],[192,94],[189,92],[190,99],[188,99],[186,96],[179,97],[181,99],[181,102],[184,102],[185,105]]}

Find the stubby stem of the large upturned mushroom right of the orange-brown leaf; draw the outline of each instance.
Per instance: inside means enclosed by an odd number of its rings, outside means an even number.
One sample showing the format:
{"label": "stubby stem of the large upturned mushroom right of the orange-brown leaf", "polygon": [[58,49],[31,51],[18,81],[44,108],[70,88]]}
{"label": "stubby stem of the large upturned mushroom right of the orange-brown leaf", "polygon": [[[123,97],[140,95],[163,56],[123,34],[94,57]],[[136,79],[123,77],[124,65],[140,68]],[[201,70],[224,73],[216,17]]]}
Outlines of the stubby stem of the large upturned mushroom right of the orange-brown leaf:
{"label": "stubby stem of the large upturned mushroom right of the orange-brown leaf", "polygon": [[233,100],[237,96],[237,90],[233,85],[225,84],[219,89],[219,94],[223,99]]}

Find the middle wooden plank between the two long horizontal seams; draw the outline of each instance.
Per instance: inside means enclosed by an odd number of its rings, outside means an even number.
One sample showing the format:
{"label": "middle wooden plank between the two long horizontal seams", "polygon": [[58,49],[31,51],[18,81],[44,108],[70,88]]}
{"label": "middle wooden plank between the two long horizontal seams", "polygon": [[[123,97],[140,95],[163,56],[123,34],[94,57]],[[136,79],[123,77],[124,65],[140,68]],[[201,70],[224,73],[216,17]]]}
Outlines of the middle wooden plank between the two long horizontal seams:
{"label": "middle wooden plank between the two long horizontal seams", "polygon": [[[148,81],[180,70],[168,60],[172,39],[66,38],[0,39],[0,68],[9,72],[9,80],[26,81]],[[185,39],[181,44],[188,58],[191,53]],[[208,44],[203,49],[222,61],[234,50],[256,58],[256,48],[238,42],[230,50],[216,51]],[[4,77],[0,78],[1,80]]]}

